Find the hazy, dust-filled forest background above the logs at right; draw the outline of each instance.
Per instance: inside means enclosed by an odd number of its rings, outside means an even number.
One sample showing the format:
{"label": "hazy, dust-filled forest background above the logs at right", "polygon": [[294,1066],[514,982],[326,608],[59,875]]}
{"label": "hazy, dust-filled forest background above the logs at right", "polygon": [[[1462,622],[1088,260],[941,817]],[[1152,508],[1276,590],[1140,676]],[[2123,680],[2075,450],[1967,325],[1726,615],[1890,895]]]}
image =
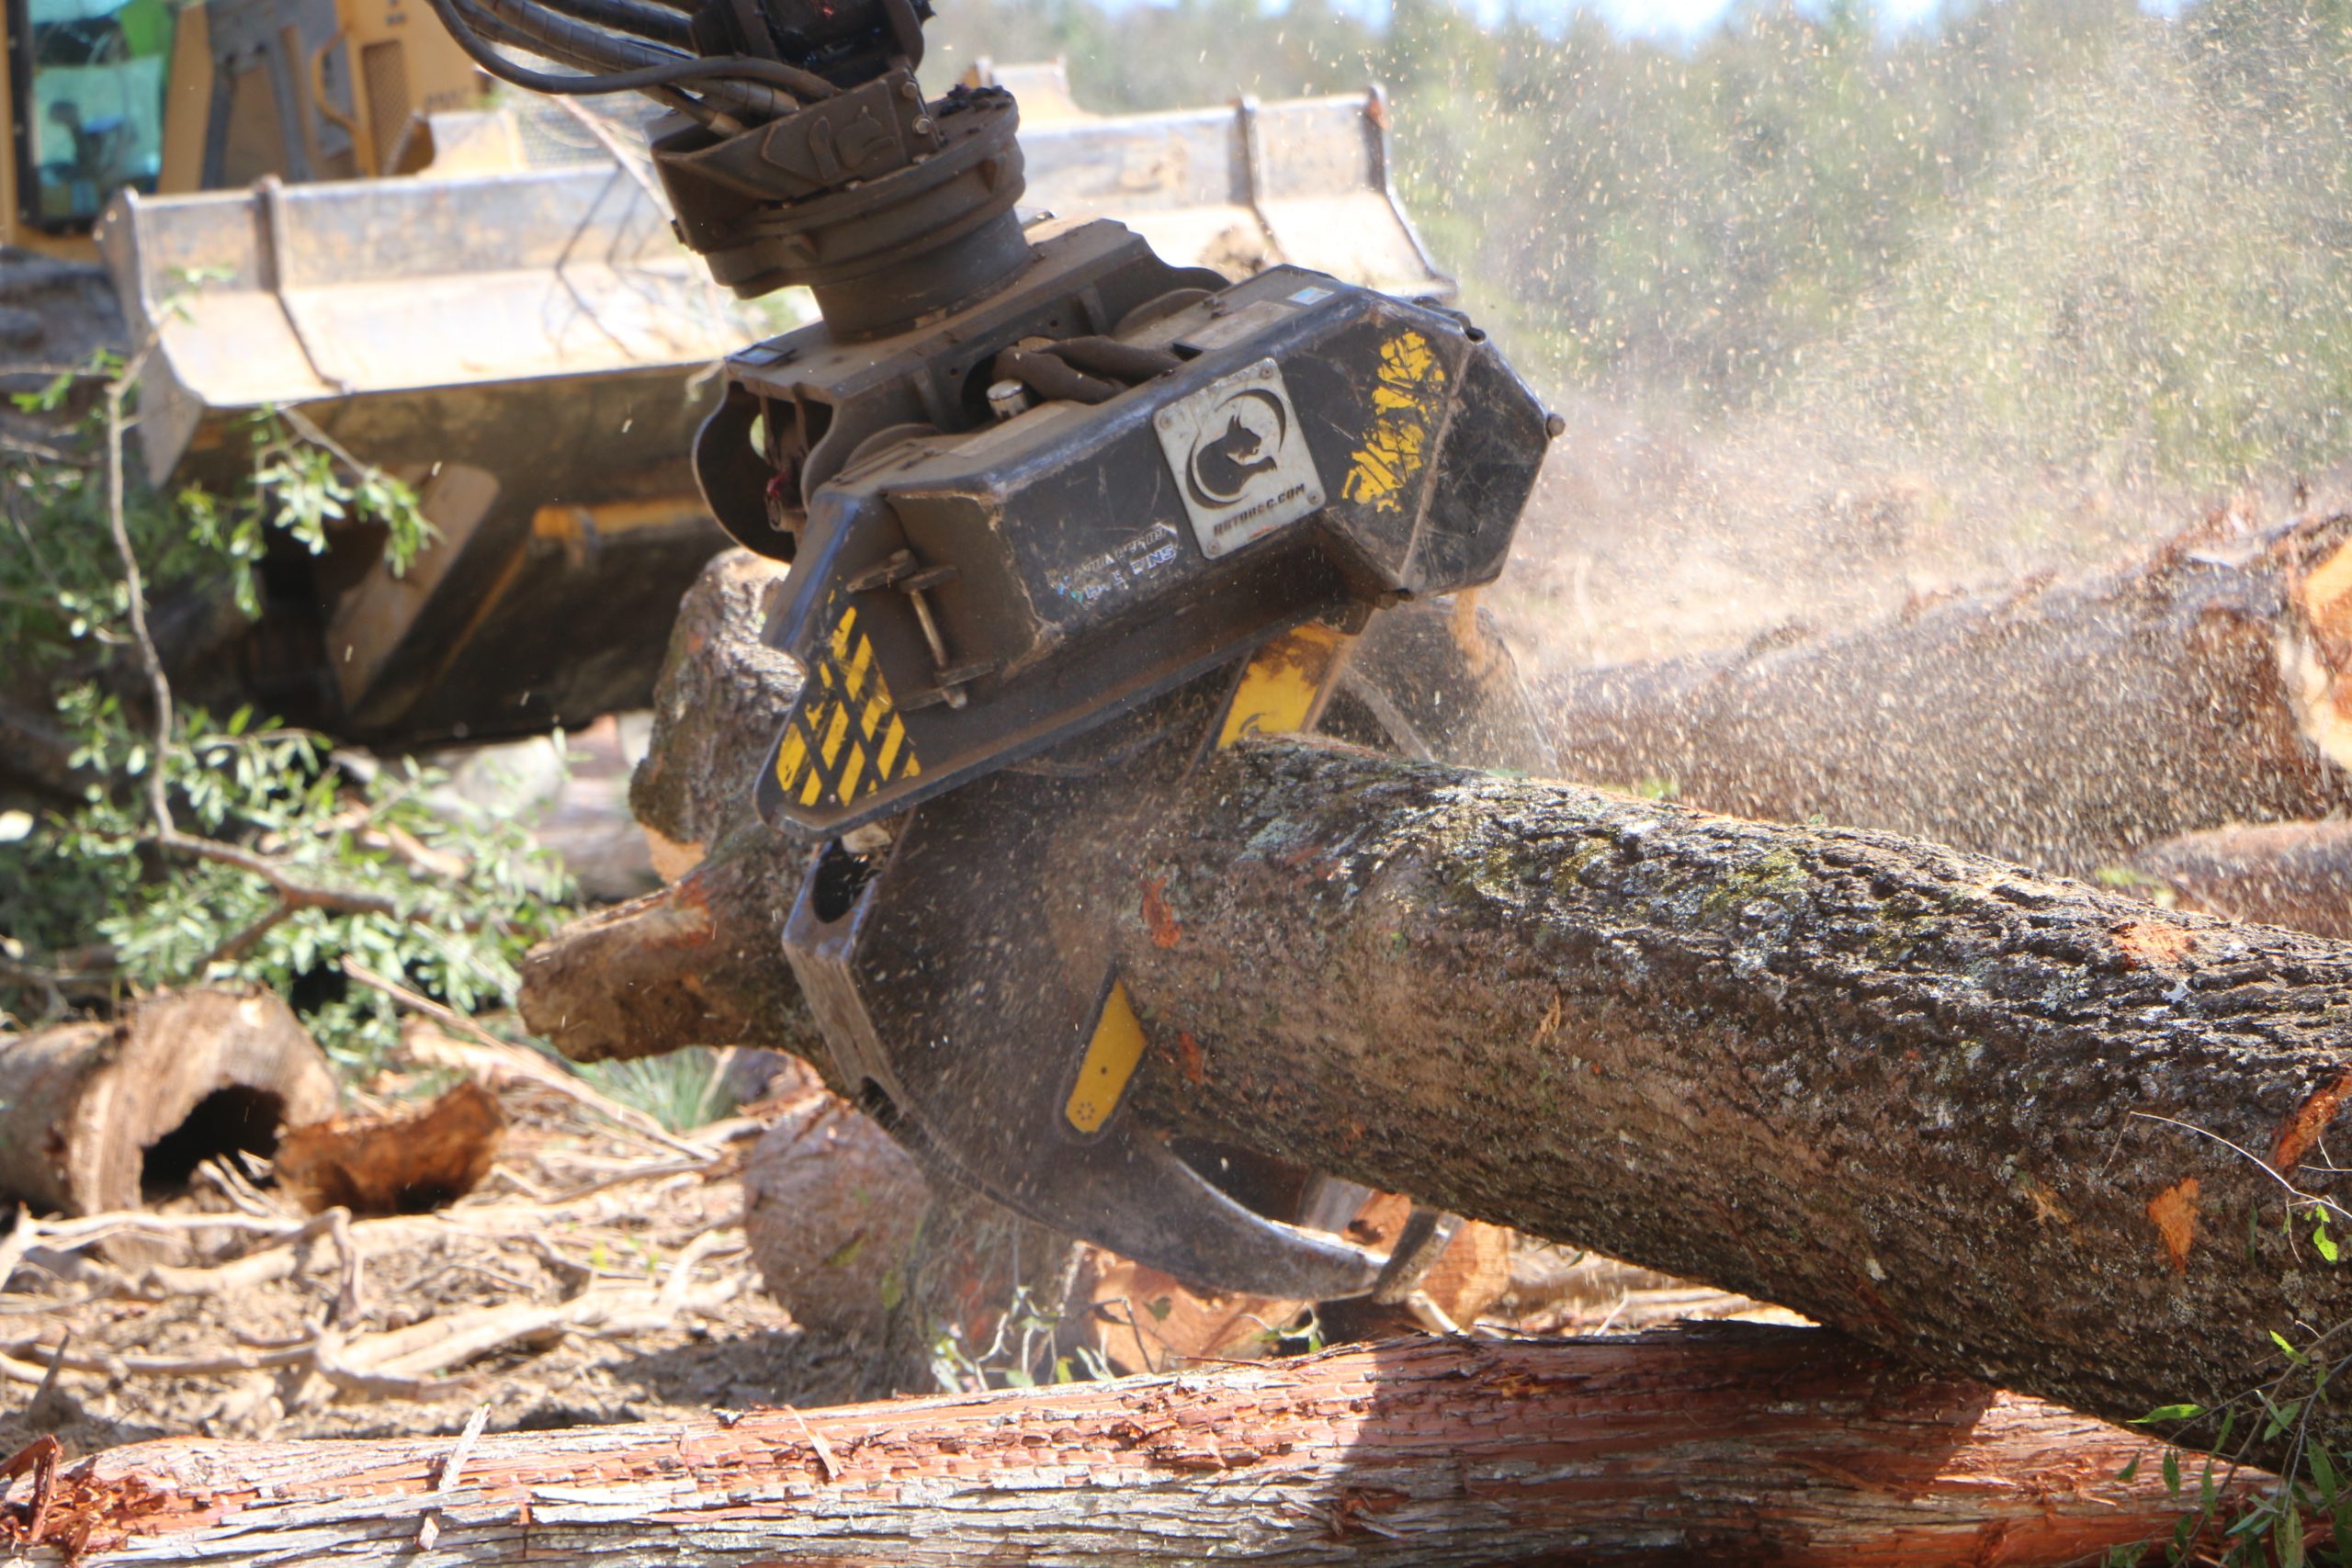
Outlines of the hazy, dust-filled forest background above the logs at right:
{"label": "hazy, dust-filled forest background above the logs at right", "polygon": [[934,33],[955,68],[1065,56],[1098,113],[1388,89],[1406,209],[1571,416],[1505,602],[1543,668],[2100,559],[2347,456],[2340,0],[1689,38],[946,0]]}

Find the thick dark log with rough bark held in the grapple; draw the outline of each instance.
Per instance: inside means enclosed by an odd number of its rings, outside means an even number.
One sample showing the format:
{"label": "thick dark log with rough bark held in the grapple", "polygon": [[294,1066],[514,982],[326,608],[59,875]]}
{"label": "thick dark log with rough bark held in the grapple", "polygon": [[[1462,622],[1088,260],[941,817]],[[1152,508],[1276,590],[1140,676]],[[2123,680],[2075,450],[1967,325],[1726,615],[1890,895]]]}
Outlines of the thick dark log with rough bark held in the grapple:
{"label": "thick dark log with rough bark held in the grapple", "polygon": [[[1301,743],[1223,755],[1141,856],[1103,919],[1152,1126],[2110,1420],[2293,1396],[2270,1333],[2352,1319],[2352,1265],[2319,1260],[2293,1197],[2343,1185],[2321,1150],[2352,1100],[2343,945],[1884,835]],[[771,907],[706,919],[767,945],[736,1044],[788,1046],[804,1009]],[[593,1011],[555,973],[597,966],[536,969],[532,1016]],[[2333,1385],[2307,1418],[2352,1436]]]}

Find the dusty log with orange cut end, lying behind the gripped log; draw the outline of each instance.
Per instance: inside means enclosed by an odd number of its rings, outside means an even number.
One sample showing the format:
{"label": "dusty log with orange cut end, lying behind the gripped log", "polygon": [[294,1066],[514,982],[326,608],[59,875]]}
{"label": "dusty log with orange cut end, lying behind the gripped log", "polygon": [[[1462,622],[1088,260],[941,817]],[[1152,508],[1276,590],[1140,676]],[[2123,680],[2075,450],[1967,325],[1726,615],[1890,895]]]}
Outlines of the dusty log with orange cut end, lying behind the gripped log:
{"label": "dusty log with orange cut end, lying behind the gripped log", "polygon": [[2091,875],[2157,839],[2352,806],[2352,517],[1877,625],[1588,670],[1548,691],[1566,778]]}

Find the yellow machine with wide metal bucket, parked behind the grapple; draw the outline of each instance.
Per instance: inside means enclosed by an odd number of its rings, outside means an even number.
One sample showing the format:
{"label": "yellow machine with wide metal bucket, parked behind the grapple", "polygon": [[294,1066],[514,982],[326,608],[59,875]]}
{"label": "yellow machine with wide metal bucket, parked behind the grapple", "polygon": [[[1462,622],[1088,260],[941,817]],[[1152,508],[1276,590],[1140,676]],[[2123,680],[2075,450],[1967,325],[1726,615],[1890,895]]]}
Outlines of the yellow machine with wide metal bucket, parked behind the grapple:
{"label": "yellow machine with wide metal bucket, parked behind the grapple", "polygon": [[[0,9],[0,376],[153,331],[158,484],[235,484],[242,421],[299,407],[416,484],[437,531],[405,576],[367,529],[322,557],[278,541],[256,625],[188,616],[228,642],[167,646],[191,696],[393,745],[642,705],[724,543],[684,461],[717,362],[807,308],[710,284],[628,122],[485,110],[426,0]],[[630,38],[689,52],[694,12],[654,9]],[[1056,108],[1028,134],[1030,209],[1122,214],[1228,277],[1291,261],[1444,292],[1376,99],[1094,118],[1058,68],[1007,75]],[[557,139],[588,155],[550,165]]]}

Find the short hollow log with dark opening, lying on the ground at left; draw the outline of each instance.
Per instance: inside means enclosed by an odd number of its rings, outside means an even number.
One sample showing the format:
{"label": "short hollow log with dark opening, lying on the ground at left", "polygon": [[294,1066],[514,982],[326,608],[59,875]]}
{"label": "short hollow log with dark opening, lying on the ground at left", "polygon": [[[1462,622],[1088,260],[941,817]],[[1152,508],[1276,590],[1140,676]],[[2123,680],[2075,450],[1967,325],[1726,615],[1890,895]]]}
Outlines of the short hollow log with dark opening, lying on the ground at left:
{"label": "short hollow log with dark opening, lying on the ground at left", "polygon": [[327,1056],[270,992],[183,990],[113,1023],[0,1039],[0,1194],[71,1215],[139,1208],[212,1154],[268,1154],[334,1114]]}

